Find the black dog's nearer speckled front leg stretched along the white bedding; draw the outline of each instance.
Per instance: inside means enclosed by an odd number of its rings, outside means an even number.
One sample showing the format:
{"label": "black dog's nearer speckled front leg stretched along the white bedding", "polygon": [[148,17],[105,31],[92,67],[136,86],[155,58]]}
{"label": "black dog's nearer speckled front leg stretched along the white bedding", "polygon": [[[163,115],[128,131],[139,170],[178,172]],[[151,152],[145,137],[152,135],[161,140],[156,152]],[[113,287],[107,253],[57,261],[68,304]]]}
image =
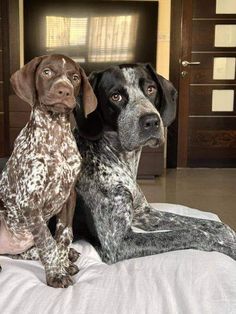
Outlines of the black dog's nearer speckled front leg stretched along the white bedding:
{"label": "black dog's nearer speckled front leg stretched along the white bedding", "polygon": [[220,242],[208,230],[184,226],[169,232],[133,232],[133,200],[122,187],[113,189],[93,216],[103,259],[109,263],[182,249],[218,251],[236,259],[236,243]]}

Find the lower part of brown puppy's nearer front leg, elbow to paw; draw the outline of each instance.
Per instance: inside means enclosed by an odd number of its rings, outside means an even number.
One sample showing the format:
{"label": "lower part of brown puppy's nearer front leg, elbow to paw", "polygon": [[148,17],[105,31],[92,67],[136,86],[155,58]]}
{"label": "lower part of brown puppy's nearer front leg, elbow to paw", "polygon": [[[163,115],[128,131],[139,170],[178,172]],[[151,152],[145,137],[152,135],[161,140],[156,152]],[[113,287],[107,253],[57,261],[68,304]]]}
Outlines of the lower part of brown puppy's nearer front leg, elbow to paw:
{"label": "lower part of brown puppy's nearer front leg, elbow to paw", "polygon": [[66,288],[72,285],[73,281],[61,262],[56,240],[53,239],[41,211],[25,210],[24,214],[45,268],[47,284],[54,288]]}

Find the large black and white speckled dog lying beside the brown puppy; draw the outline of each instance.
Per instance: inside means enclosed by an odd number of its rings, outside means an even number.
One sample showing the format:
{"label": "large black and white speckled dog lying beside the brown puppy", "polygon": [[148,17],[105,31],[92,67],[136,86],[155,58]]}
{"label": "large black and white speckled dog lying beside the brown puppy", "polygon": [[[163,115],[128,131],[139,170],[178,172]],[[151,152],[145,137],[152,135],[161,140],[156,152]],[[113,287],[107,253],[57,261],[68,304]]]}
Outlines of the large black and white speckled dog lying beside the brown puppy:
{"label": "large black and white speckled dog lying beside the brown puppy", "polygon": [[[90,231],[103,261],[180,249],[219,251],[236,259],[236,235],[220,222],[160,212],[136,183],[142,146],[159,146],[175,118],[177,93],[150,65],[121,65],[92,73],[97,110],[75,112],[83,157],[74,234]],[[135,233],[132,226],[145,233]],[[153,232],[163,231],[163,232]]]}

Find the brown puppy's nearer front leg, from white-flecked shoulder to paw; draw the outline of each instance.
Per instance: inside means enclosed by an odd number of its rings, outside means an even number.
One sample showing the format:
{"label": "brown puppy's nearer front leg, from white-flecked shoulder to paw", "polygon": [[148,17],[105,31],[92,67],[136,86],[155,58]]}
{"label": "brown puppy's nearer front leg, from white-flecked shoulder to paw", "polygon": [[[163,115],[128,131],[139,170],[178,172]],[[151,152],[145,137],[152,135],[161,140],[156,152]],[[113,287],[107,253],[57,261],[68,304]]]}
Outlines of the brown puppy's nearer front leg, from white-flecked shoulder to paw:
{"label": "brown puppy's nearer front leg, from white-flecked shoulder to paw", "polygon": [[60,252],[53,239],[43,212],[48,168],[43,158],[26,158],[17,181],[16,203],[22,211],[27,229],[33,235],[39,258],[45,268],[49,286],[64,288],[73,284],[60,259]]}

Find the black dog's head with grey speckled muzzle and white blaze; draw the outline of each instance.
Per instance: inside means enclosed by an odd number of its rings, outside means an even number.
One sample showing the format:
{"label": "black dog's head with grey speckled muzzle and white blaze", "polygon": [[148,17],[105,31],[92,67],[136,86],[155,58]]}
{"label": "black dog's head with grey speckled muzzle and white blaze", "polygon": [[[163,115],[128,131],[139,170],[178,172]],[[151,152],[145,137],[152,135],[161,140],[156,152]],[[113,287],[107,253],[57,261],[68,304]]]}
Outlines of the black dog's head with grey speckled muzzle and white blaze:
{"label": "black dog's head with grey speckled muzzle and white blaze", "polygon": [[98,107],[88,119],[76,108],[82,136],[95,139],[102,129],[113,130],[128,151],[163,143],[164,127],[175,118],[177,92],[150,64],[113,66],[92,73],[89,80]]}

